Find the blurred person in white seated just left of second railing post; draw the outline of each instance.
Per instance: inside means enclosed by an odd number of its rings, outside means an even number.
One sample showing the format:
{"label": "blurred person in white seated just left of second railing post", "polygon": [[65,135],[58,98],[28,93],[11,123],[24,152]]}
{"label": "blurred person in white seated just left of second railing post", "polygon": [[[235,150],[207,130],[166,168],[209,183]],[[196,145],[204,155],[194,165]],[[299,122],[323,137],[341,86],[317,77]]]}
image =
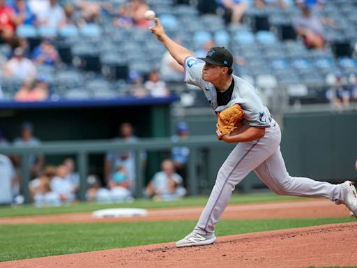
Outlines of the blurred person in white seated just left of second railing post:
{"label": "blurred person in white seated just left of second railing post", "polygon": [[66,179],[68,168],[66,165],[59,165],[56,176],[50,181],[50,187],[54,193],[59,194],[62,202],[75,200],[75,187]]}

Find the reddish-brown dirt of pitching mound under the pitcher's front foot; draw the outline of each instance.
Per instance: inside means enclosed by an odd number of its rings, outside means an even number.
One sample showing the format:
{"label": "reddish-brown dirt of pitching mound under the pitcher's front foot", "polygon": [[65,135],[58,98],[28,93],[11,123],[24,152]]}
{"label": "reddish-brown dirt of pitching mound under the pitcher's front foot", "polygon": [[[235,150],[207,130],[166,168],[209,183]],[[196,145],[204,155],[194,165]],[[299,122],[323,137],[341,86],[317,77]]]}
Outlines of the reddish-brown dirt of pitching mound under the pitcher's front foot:
{"label": "reddish-brown dirt of pitching mound under the pitcher's front foot", "polygon": [[357,223],[321,225],[219,237],[214,245],[174,248],[174,243],[30,260],[2,267],[323,267],[355,266]]}

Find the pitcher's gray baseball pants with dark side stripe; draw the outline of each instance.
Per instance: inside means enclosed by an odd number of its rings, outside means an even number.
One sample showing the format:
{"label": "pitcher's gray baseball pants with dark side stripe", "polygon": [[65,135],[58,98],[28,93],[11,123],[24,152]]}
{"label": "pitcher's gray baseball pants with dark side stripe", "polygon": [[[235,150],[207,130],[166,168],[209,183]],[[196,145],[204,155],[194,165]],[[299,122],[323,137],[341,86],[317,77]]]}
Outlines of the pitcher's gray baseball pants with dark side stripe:
{"label": "pitcher's gray baseball pants with dark side stripe", "polygon": [[215,186],[202,211],[195,232],[213,233],[231,198],[231,193],[250,171],[278,195],[296,195],[311,198],[341,199],[339,184],[291,177],[280,152],[281,131],[278,124],[266,128],[264,137],[252,142],[240,142],[234,147],[220,168]]}

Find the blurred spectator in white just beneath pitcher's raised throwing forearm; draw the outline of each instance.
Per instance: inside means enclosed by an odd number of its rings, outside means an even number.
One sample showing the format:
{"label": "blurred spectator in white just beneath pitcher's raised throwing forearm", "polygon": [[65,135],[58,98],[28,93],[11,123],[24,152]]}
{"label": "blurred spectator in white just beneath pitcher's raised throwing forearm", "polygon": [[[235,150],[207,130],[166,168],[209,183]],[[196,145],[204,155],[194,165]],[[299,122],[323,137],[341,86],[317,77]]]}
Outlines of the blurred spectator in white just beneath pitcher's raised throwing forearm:
{"label": "blurred spectator in white just beneath pitcher's raised throwing forearm", "polygon": [[160,77],[165,82],[183,81],[183,66],[178,64],[168,51],[165,52],[161,59]]}

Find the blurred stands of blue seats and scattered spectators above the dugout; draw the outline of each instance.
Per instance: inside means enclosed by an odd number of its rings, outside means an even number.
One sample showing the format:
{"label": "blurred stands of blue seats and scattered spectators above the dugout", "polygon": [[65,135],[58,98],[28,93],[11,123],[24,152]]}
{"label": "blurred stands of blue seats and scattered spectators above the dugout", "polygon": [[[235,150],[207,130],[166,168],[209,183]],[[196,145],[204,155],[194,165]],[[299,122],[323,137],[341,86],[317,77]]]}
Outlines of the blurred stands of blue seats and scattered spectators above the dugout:
{"label": "blurred stands of blue seats and scattered spectators above the dugout", "polygon": [[331,73],[352,86],[355,0],[1,0],[0,99],[184,94],[176,87],[182,66],[147,30],[149,9],[197,57],[212,45],[229,47],[237,55],[234,73],[258,86],[324,87],[316,103],[329,101]]}

